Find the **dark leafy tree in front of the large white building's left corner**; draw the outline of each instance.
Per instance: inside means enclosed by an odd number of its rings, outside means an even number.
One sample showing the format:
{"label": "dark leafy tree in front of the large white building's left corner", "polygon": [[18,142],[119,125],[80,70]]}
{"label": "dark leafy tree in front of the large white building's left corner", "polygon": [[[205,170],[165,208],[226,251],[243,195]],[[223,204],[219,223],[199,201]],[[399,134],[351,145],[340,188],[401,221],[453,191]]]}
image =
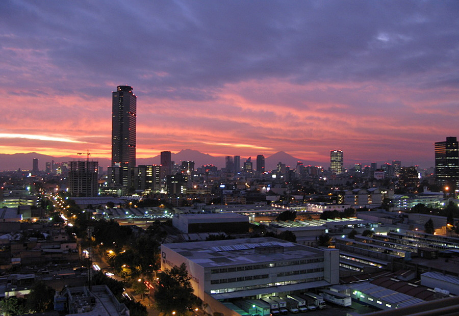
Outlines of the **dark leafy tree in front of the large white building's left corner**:
{"label": "dark leafy tree in front of the large white building's left corner", "polygon": [[157,308],[165,314],[175,311],[177,315],[184,315],[189,308],[198,307],[195,304],[200,300],[193,294],[190,279],[184,263],[161,273],[154,295]]}

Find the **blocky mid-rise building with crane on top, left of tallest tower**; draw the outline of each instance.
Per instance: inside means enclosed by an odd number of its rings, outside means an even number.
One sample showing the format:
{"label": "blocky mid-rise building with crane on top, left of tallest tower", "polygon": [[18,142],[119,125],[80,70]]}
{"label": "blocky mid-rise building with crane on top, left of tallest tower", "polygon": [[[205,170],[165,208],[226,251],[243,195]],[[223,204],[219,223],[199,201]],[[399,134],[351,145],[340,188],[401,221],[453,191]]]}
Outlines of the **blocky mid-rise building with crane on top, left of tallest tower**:
{"label": "blocky mid-rise building with crane on top, left of tallest tower", "polygon": [[71,161],[68,170],[68,191],[71,196],[97,196],[96,161]]}

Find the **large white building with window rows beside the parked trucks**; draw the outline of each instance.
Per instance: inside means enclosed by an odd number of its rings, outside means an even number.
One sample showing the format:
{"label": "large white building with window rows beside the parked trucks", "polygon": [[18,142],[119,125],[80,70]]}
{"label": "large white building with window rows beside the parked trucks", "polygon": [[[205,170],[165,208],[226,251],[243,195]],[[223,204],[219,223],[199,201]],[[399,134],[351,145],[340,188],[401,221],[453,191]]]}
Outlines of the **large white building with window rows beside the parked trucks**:
{"label": "large white building with window rows beside the parked trucks", "polygon": [[194,294],[231,299],[337,284],[339,250],[275,238],[161,245],[161,269],[185,262]]}

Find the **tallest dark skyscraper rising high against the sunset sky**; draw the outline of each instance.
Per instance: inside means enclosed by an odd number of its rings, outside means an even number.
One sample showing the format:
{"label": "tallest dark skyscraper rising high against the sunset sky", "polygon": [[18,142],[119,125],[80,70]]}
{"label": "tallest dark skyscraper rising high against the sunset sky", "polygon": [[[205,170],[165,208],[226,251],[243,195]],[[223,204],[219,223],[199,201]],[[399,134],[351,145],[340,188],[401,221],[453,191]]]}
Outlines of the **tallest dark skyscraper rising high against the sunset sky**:
{"label": "tallest dark skyscraper rising high against the sunset sky", "polygon": [[130,86],[112,92],[112,167],[136,166],[137,96]]}

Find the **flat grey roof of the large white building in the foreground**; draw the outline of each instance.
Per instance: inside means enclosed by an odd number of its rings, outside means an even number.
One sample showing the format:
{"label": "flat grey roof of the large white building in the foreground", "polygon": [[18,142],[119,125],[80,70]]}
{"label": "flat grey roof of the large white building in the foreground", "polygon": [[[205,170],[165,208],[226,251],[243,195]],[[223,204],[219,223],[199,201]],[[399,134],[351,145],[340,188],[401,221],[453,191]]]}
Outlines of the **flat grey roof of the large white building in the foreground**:
{"label": "flat grey roof of the large white building in the foreground", "polygon": [[[274,253],[256,252],[256,248],[260,249],[259,247],[268,249],[276,246],[283,246],[284,251]],[[203,268],[313,258],[323,254],[320,249],[271,237],[163,244],[162,247],[179,253]]]}

